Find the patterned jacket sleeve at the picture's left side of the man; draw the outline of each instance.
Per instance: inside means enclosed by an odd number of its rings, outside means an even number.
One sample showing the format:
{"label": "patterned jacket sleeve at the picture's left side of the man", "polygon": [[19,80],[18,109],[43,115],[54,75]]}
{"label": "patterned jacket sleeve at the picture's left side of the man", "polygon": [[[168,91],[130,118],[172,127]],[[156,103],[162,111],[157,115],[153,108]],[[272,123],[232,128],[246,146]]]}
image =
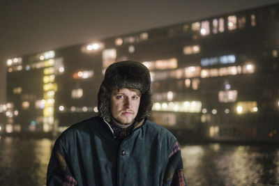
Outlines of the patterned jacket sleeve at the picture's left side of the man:
{"label": "patterned jacket sleeve at the picture's left side of the man", "polygon": [[68,169],[66,150],[59,141],[54,144],[50,163],[47,166],[47,186],[54,185],[77,185],[77,181]]}

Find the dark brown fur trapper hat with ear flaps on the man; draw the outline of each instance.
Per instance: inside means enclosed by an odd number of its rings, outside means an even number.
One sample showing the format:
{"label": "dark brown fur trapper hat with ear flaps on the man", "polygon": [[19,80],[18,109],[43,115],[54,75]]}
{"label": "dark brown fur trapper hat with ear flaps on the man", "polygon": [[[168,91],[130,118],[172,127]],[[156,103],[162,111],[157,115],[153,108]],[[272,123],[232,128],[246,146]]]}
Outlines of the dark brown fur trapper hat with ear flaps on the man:
{"label": "dark brown fur trapper hat with ear flaps on the man", "polygon": [[140,122],[149,117],[152,109],[150,84],[150,72],[142,63],[136,61],[113,63],[105,71],[105,78],[98,92],[99,116],[110,122],[112,117],[110,93],[116,89],[134,88],[142,93],[135,121]]}

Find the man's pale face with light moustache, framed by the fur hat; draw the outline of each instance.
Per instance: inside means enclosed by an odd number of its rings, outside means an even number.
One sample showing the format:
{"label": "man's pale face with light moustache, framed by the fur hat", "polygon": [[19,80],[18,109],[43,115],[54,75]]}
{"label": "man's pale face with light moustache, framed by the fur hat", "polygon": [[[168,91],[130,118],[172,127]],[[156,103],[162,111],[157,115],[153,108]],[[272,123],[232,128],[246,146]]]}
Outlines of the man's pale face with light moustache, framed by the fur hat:
{"label": "man's pale face with light moustache, framed by the fur hat", "polygon": [[121,88],[110,94],[110,111],[114,119],[122,124],[130,124],[137,116],[140,106],[140,91]]}

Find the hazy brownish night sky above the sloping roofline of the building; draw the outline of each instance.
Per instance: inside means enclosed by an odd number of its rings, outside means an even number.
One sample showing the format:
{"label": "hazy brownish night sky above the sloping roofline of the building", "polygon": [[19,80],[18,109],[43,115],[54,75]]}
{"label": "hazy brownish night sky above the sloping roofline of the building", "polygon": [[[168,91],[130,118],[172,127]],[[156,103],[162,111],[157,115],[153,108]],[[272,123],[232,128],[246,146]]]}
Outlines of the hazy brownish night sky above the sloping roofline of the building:
{"label": "hazy brownish night sky above the sloping roofline of the building", "polygon": [[7,59],[272,3],[279,0],[0,0],[0,104]]}

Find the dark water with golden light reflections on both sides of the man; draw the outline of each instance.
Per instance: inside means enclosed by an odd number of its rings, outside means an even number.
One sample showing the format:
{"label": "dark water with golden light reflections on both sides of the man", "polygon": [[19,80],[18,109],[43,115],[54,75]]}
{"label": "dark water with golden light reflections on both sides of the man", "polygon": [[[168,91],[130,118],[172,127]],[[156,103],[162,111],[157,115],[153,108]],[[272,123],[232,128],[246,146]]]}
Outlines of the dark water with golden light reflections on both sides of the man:
{"label": "dark water with golden light reflections on both sides of the man", "polygon": [[[0,185],[45,185],[53,141],[0,139]],[[181,146],[188,185],[279,185],[279,146]]]}

